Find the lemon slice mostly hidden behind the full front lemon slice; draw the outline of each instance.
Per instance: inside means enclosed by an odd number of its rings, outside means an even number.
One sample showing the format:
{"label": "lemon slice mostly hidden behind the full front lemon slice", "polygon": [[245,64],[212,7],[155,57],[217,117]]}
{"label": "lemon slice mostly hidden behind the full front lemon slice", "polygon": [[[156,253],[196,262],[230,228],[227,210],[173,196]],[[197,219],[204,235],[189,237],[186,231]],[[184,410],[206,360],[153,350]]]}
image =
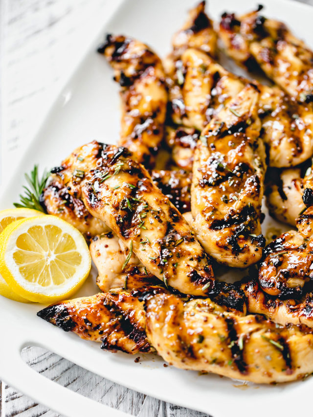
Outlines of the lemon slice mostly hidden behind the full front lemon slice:
{"label": "lemon slice mostly hidden behind the full front lemon slice", "polygon": [[[44,213],[40,211],[28,209],[28,208],[14,208],[0,211],[0,233],[3,229],[11,224],[15,220],[24,219],[25,217],[34,217],[41,216]],[[6,281],[0,275],[0,295],[3,297],[10,298],[14,301],[19,301],[20,303],[29,303],[29,300],[22,298],[20,295],[16,294],[12,289],[7,285]]]}

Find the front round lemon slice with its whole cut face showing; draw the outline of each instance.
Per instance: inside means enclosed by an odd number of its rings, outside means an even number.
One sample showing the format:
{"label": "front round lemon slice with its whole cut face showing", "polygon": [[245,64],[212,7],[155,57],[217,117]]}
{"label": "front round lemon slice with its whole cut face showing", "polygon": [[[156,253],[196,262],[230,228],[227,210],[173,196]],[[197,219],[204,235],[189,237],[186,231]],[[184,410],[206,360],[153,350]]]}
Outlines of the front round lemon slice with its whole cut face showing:
{"label": "front round lemon slice with its whole cut face showing", "polygon": [[69,297],[90,267],[83,235],[55,216],[17,220],[0,234],[0,274],[27,300],[53,303]]}

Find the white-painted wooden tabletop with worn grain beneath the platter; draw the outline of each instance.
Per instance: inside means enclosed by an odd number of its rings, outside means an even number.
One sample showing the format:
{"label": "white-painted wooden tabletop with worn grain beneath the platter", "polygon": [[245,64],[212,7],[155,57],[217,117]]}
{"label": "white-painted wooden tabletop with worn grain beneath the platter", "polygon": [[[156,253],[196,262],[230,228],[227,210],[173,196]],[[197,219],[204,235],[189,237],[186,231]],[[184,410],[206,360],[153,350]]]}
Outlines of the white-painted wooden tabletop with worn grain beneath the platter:
{"label": "white-painted wooden tabletop with worn grain beneath the platter", "polygon": [[[12,162],[18,163],[55,91],[79,61],[81,46],[90,37],[90,22],[101,16],[107,1],[110,0],[0,2],[2,183]],[[302,1],[313,4],[313,0]],[[3,330],[1,334],[5,336]],[[29,347],[23,355],[30,366],[55,382],[134,416],[204,416],[126,389],[43,349]],[[0,417],[17,415],[56,416],[0,381]]]}

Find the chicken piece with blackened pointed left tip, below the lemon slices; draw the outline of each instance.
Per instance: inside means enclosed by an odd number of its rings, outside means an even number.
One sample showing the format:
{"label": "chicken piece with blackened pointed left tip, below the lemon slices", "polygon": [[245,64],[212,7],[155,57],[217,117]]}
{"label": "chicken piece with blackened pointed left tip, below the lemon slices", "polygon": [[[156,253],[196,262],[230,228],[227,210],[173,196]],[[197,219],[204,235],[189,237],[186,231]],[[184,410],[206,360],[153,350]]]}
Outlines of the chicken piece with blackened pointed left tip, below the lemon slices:
{"label": "chicken piece with blackened pointed left tip, below the lemon slices", "polygon": [[[139,277],[134,279],[137,285]],[[145,311],[139,293],[154,288],[141,278],[140,291],[99,293],[54,304],[37,315],[65,331],[101,343],[101,348],[126,353],[153,352],[145,334]],[[163,291],[157,286],[155,291]]]}

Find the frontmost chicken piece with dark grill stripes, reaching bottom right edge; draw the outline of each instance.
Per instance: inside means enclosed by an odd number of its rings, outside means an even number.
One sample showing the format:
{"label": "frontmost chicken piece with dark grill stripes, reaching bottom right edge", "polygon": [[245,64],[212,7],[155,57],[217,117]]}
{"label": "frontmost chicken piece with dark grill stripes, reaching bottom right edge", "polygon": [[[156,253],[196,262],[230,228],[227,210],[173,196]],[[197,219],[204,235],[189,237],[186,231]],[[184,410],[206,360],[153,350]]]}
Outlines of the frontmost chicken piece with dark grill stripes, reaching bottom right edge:
{"label": "frontmost chicken piece with dark grill stripes, reaching bottom right edge", "polygon": [[146,332],[164,360],[256,383],[288,382],[313,372],[313,334],[261,316],[239,316],[207,300],[170,294],[146,301]]}

